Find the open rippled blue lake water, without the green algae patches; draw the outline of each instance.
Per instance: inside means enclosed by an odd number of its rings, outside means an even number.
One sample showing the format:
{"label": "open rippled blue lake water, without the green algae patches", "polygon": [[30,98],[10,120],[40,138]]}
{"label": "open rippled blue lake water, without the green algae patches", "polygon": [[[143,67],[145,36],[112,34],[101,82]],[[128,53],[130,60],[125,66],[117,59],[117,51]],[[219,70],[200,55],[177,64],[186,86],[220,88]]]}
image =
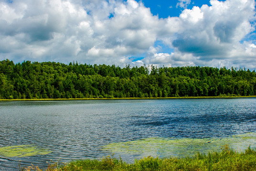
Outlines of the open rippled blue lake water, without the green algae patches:
{"label": "open rippled blue lake water, without the green algae patches", "polygon": [[0,171],[34,163],[100,158],[102,146],[149,137],[222,138],[256,132],[256,98],[0,102],[0,147],[52,152],[0,156]]}

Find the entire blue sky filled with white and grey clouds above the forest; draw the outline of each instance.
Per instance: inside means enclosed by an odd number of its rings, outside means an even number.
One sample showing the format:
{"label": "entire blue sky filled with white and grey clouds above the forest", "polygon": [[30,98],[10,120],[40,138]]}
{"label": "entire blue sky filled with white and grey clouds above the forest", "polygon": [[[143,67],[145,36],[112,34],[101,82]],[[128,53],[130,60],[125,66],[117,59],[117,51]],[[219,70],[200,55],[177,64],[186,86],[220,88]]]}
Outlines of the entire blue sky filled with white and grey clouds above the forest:
{"label": "entire blue sky filled with white and grey clouds above the forest", "polygon": [[255,0],[0,0],[0,60],[256,69]]}

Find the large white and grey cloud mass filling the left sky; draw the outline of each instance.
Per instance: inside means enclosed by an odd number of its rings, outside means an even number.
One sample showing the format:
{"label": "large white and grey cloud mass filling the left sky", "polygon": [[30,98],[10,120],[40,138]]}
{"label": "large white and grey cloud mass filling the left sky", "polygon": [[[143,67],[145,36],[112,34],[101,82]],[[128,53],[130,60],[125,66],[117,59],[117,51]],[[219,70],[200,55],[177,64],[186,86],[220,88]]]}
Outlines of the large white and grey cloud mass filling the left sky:
{"label": "large white and grey cloud mass filling the left sky", "polygon": [[120,64],[147,51],[161,23],[135,0],[1,0],[0,11],[0,56],[11,59]]}

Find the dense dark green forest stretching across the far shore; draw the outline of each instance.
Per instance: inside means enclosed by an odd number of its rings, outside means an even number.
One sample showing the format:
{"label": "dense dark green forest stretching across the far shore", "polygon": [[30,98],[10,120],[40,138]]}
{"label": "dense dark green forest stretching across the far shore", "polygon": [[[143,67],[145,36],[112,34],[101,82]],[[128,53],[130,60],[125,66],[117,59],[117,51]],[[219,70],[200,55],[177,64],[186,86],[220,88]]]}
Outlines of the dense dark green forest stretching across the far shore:
{"label": "dense dark green forest stretching across the far shore", "polygon": [[219,95],[256,95],[256,72],[234,67],[0,61],[0,99]]}

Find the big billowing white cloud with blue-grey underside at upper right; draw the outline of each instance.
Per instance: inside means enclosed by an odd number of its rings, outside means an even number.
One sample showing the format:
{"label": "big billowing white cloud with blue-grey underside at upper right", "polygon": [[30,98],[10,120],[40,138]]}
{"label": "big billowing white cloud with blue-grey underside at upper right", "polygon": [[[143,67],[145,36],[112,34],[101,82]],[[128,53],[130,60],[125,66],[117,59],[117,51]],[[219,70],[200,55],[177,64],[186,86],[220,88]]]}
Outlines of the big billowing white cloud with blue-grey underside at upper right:
{"label": "big billowing white cloud with blue-grey underside at upper right", "polygon": [[233,44],[254,30],[250,24],[250,17],[255,13],[254,1],[211,0],[210,3],[210,7],[193,7],[181,13],[184,30],[178,32],[177,39],[172,42],[181,52],[191,52],[202,58],[225,55]]}

